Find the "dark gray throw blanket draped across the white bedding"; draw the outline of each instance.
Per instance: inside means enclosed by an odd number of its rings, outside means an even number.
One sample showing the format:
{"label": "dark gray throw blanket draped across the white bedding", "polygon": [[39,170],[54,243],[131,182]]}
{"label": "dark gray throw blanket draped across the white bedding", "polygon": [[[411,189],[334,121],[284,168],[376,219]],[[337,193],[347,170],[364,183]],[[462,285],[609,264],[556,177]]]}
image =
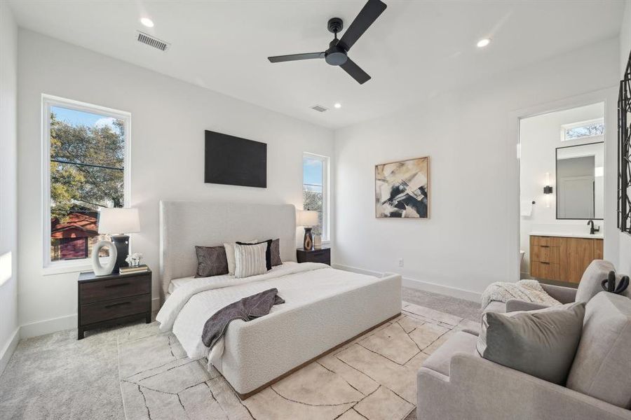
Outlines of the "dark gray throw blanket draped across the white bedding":
{"label": "dark gray throw blanket draped across the white bedding", "polygon": [[271,307],[275,304],[285,303],[282,297],[278,296],[278,289],[271,288],[264,290],[256,295],[243,297],[238,302],[229,304],[219,311],[215,312],[204,324],[202,332],[202,342],[205,346],[212,349],[219,339],[223,337],[228,324],[235,319],[243,319],[243,321],[252,321],[269,314]]}

